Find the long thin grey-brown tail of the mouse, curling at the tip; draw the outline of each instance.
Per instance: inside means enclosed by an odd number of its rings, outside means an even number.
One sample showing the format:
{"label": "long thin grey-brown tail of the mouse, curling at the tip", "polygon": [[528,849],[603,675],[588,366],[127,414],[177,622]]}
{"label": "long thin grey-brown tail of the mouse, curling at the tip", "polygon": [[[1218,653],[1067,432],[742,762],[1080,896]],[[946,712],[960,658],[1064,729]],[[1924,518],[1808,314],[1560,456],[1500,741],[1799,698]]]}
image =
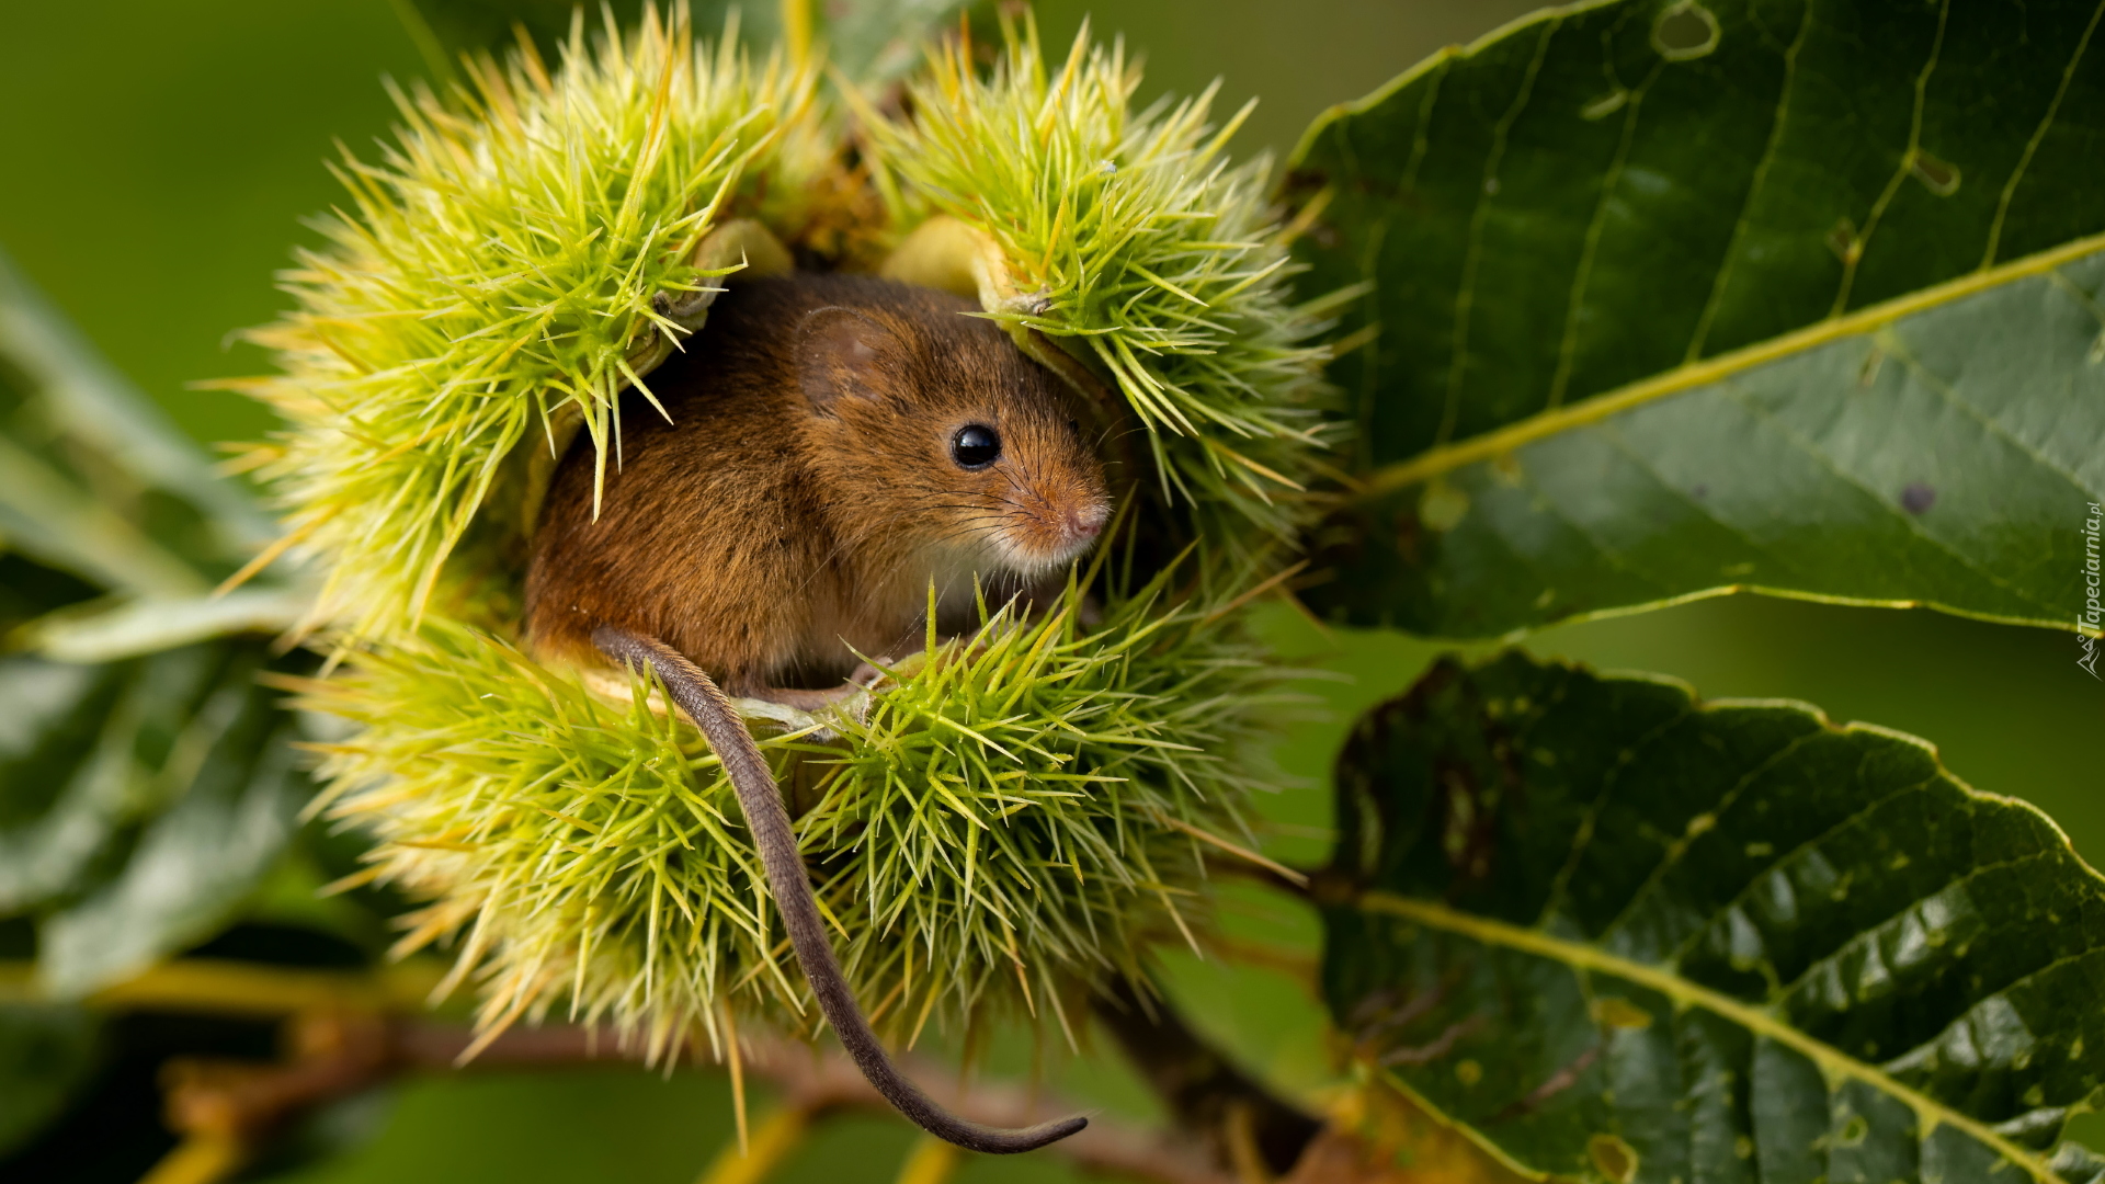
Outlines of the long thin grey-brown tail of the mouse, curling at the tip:
{"label": "long thin grey-brown tail of the mouse, curling at the tip", "polygon": [[840,1034],[840,1043],[846,1045],[857,1068],[863,1070],[863,1077],[869,1079],[869,1085],[878,1087],[878,1093],[886,1102],[939,1140],[994,1155],[1040,1148],[1088,1125],[1088,1119],[1074,1117],[1015,1131],[983,1127],[966,1123],[937,1106],[907,1081],[893,1064],[893,1058],[884,1053],[884,1045],[878,1043],[876,1032],[869,1030],[863,1009],[855,1003],[855,992],[848,990],[848,978],[840,973],[840,961],[834,959],[834,946],[825,940],[825,927],[819,921],[819,902],[810,895],[804,857],[798,853],[796,834],[789,830],[789,811],[783,809],[781,792],[775,788],[775,773],[768,771],[768,763],[760,756],[760,748],[754,746],[751,733],[745,731],[745,721],[730,708],[730,699],[680,651],[657,638],[615,626],[600,626],[592,630],[592,643],[615,662],[638,672],[646,666],[657,670],[671,699],[709,737],[709,748],[724,763],[730,788],[739,794],[745,826],[754,832],[754,845],[760,849],[760,866],[768,874],[768,889],[783,912],[783,927],[789,929],[796,961],[804,967],[804,978],[810,980],[813,994],[819,996],[819,1009],[825,1011],[825,1020]]}

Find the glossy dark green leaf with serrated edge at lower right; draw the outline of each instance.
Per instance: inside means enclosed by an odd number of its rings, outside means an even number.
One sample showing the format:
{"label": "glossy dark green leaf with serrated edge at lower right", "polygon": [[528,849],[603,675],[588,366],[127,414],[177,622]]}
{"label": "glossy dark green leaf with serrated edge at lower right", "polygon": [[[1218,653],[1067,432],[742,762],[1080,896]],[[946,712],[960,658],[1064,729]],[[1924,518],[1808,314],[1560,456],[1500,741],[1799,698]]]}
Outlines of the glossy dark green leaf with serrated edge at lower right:
{"label": "glossy dark green leaf with serrated edge at lower right", "polygon": [[1332,1018],[1524,1171],[2097,1176],[2054,1144],[2105,1083],[2105,881],[1913,737],[1448,659],[1337,813]]}

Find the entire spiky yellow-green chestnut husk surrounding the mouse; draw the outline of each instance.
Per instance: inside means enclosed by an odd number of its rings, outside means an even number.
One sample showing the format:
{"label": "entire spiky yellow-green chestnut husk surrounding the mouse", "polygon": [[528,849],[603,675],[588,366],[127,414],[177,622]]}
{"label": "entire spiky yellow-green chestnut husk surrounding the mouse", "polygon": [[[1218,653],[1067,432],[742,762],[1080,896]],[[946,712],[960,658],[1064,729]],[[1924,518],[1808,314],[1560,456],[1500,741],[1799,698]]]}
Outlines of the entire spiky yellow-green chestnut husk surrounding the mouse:
{"label": "entire spiky yellow-green chestnut husk surrounding the mouse", "polygon": [[488,1030],[562,1001],[659,1049],[722,1007],[815,1022],[699,733],[625,674],[537,664],[518,586],[552,445],[583,428],[604,463],[617,396],[684,333],[655,297],[718,274],[705,240],[716,259],[764,228],[874,268],[871,244],[930,225],[994,244],[989,312],[1124,390],[1200,512],[1179,569],[1200,592],[1143,571],[1088,613],[1080,590],[994,609],[865,710],[770,733],[836,946],[907,1037],[987,1007],[1067,1022],[1090,984],[1191,940],[1206,855],[1252,845],[1248,739],[1276,708],[1223,573],[1252,569],[1250,516],[1297,520],[1320,394],[1261,169],[1223,162],[1206,101],[1128,116],[1116,51],[1078,44],[1048,76],[1025,32],[989,78],[937,55],[863,175],[808,74],[699,46],[678,13],[469,78],[404,99],[379,162],[345,158],[354,204],[290,274],[299,310],[257,335],[284,375],[246,383],[290,423],[255,461],[347,659],[307,689],[360,727],[328,748],[330,809],[379,838],[373,876],[427,902],[404,944],[453,944]]}

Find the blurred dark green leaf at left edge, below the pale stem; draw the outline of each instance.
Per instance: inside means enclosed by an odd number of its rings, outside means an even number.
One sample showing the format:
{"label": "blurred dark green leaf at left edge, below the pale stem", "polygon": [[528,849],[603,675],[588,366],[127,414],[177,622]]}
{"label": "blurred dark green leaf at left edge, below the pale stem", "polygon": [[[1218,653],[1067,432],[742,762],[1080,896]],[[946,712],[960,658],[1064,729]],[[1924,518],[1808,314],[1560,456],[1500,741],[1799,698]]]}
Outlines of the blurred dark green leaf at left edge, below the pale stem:
{"label": "blurred dark green leaf at left edge, below the pale stem", "polygon": [[[290,716],[257,685],[263,664],[261,643],[109,666],[0,657],[0,916],[61,910],[48,925],[63,933],[118,910],[166,931],[69,952],[46,929],[55,982],[95,978],[67,969],[84,959],[198,938],[192,914],[261,876],[284,843],[309,790],[290,773]],[[179,868],[192,879],[156,879]]]}

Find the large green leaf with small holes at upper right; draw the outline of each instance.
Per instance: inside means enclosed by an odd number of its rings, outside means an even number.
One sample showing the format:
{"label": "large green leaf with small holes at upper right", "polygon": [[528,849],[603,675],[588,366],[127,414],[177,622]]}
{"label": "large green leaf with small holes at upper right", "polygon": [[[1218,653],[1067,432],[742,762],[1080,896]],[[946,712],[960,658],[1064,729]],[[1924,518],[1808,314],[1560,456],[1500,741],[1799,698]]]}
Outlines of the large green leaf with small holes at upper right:
{"label": "large green leaf with small holes at upper right", "polygon": [[2073,624],[2099,13],[1581,4],[1318,120],[1303,291],[1375,291],[1314,596],[1450,636],[1737,588]]}

